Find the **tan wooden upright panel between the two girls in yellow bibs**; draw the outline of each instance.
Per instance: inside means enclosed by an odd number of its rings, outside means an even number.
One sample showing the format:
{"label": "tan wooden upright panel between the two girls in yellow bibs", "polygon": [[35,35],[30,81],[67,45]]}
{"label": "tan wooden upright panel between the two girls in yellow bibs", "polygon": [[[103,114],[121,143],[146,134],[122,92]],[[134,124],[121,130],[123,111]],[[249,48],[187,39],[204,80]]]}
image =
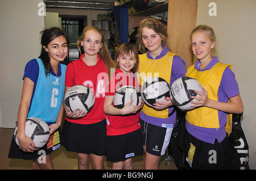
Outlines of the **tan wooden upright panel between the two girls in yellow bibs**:
{"label": "tan wooden upright panel between the two girls in yellow bibs", "polygon": [[196,27],[196,14],[197,0],[169,0],[168,2],[169,47],[172,52],[183,58],[187,68],[193,62],[190,34]]}

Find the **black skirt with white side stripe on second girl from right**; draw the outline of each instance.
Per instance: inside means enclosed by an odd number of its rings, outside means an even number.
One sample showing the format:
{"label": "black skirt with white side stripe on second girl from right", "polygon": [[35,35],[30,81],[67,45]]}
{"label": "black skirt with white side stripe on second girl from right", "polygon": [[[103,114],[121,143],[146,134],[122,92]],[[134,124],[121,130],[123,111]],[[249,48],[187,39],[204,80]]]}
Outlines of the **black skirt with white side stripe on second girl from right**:
{"label": "black skirt with white side stripe on second girl from right", "polygon": [[142,144],[146,146],[147,153],[162,156],[171,140],[173,128],[163,128],[152,125],[139,119],[141,125]]}

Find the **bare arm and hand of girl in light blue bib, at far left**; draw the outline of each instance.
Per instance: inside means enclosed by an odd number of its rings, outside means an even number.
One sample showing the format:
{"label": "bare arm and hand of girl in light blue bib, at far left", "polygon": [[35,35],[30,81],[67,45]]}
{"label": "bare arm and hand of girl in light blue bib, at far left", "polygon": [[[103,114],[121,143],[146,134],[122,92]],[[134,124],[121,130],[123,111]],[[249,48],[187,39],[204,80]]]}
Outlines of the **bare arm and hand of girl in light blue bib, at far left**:
{"label": "bare arm and hand of girl in light blue bib, at far left", "polygon": [[25,134],[25,126],[28,115],[28,108],[30,107],[30,100],[34,89],[34,82],[30,78],[25,77],[23,81],[22,98],[18,111],[18,131],[16,137],[19,141],[19,149],[26,152],[34,152],[36,149],[34,142]]}

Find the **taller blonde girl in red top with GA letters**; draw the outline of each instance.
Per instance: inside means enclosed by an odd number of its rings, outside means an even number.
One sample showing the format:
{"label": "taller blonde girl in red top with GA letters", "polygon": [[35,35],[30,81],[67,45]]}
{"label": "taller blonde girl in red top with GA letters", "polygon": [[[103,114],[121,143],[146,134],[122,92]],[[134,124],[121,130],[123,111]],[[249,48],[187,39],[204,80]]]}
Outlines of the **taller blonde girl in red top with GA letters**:
{"label": "taller blonde girl in red top with GA letters", "polygon": [[104,43],[104,32],[99,28],[85,27],[77,45],[84,54],[68,64],[65,92],[75,85],[87,86],[94,92],[95,103],[88,113],[81,110],[72,113],[65,108],[63,145],[68,151],[77,152],[78,169],[89,169],[89,158],[93,169],[105,169],[106,115],[103,105],[110,69],[115,65]]}

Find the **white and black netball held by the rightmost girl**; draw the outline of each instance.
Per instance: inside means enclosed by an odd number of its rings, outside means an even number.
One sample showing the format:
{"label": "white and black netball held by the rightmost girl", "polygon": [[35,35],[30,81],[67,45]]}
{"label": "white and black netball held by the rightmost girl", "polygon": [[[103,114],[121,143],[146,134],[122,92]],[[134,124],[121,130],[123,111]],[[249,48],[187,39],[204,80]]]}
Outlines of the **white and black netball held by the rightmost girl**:
{"label": "white and black netball held by the rightmost girl", "polygon": [[192,77],[181,77],[171,86],[171,100],[181,110],[192,110],[191,96],[199,96],[195,90],[203,92],[201,83]]}

